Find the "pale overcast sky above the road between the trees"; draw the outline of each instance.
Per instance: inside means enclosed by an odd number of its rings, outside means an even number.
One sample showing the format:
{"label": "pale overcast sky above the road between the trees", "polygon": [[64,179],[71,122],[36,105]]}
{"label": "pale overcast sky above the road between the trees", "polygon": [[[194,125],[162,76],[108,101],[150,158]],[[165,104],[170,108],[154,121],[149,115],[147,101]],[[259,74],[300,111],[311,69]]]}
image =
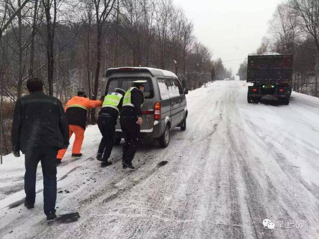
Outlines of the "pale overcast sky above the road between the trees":
{"label": "pale overcast sky above the road between the trees", "polygon": [[194,24],[197,39],[237,73],[239,61],[254,52],[282,0],[173,0]]}

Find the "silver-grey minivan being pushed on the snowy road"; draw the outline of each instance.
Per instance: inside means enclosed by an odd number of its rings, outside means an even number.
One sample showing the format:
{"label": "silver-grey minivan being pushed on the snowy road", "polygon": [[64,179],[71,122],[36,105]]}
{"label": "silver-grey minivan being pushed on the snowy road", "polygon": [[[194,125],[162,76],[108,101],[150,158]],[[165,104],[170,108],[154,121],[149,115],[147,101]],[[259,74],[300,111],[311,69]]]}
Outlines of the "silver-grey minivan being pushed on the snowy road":
{"label": "silver-grey minivan being pushed on the snowy road", "polygon": [[[147,80],[142,107],[143,123],[141,141],[159,139],[161,147],[169,143],[169,130],[174,127],[186,129],[187,105],[183,89],[177,76],[170,72],[147,67],[110,68],[106,71],[105,95],[116,88],[127,91],[136,80]],[[122,139],[121,126],[116,125],[115,144]]]}

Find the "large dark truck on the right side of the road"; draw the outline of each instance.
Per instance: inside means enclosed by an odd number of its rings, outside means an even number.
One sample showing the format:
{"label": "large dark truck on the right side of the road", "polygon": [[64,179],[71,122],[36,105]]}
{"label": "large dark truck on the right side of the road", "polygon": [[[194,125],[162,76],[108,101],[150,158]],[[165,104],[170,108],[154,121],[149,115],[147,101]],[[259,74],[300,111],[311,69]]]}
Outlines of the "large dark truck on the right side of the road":
{"label": "large dark truck on the right side of the road", "polygon": [[248,103],[277,101],[289,105],[292,92],[293,55],[248,55]]}

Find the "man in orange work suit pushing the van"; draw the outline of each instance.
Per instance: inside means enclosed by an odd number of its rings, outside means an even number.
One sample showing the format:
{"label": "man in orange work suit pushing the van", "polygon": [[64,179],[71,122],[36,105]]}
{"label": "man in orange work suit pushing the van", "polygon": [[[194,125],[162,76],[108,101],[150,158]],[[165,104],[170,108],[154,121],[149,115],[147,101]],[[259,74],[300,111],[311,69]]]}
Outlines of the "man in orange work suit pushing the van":
{"label": "man in orange work suit pushing the van", "polygon": [[[72,157],[81,157],[81,146],[84,139],[86,126],[86,115],[89,108],[101,107],[102,101],[91,101],[84,92],[79,91],[78,95],[66,103],[65,114],[69,123],[69,137],[75,134],[75,140],[72,147]],[[56,164],[60,164],[66,152],[66,149],[58,151]]]}

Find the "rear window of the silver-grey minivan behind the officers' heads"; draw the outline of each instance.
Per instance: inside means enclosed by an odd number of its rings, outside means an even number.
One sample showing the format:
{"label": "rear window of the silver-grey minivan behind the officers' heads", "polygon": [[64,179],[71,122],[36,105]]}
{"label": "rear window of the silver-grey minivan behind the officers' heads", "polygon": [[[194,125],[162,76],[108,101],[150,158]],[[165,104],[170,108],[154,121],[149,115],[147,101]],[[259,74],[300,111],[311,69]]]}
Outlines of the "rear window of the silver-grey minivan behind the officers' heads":
{"label": "rear window of the silver-grey minivan behind the officers' heads", "polygon": [[116,88],[121,88],[127,91],[133,85],[133,81],[146,80],[144,88],[144,96],[146,99],[152,99],[154,97],[154,88],[150,77],[113,77],[110,78],[105,89],[105,95],[111,92],[115,92]]}

